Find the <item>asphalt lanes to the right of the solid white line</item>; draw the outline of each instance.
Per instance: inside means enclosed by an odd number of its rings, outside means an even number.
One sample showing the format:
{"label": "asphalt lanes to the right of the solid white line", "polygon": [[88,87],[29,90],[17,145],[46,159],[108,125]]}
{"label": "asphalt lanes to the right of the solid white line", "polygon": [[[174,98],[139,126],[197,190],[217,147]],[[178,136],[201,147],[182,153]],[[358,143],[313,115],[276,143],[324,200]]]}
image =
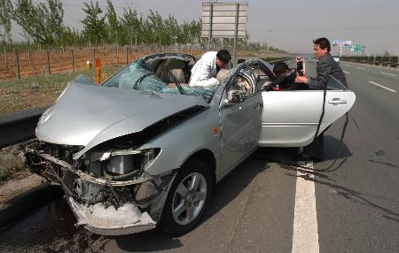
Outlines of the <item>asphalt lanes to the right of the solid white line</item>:
{"label": "asphalt lanes to the right of the solid white line", "polygon": [[[340,167],[323,173],[327,178],[315,177],[320,252],[397,252],[399,93],[369,81],[398,90],[399,78],[379,67],[340,65],[356,103],[349,113]],[[342,120],[325,134],[330,159],[316,169],[331,163],[341,127]]]}

